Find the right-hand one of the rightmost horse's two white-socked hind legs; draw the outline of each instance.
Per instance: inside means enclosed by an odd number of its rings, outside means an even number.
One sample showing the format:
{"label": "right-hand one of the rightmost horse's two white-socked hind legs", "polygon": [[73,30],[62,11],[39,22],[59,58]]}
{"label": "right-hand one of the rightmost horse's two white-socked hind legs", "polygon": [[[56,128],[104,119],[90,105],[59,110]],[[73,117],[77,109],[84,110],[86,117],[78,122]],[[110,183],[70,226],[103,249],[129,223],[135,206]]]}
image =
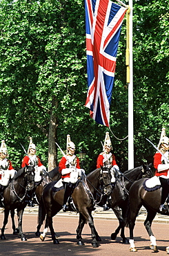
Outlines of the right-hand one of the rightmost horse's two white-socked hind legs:
{"label": "right-hand one of the rightmost horse's two white-socked hind legs", "polygon": [[152,229],[151,229],[151,225],[152,225],[152,221],[153,219],[155,219],[155,215],[157,214],[157,212],[152,211],[150,209],[147,210],[148,214],[146,217],[146,221],[144,221],[144,226],[148,232],[148,235],[150,236],[150,249],[154,250],[156,253],[158,252],[157,250],[157,244],[156,244],[156,238],[153,235]]}

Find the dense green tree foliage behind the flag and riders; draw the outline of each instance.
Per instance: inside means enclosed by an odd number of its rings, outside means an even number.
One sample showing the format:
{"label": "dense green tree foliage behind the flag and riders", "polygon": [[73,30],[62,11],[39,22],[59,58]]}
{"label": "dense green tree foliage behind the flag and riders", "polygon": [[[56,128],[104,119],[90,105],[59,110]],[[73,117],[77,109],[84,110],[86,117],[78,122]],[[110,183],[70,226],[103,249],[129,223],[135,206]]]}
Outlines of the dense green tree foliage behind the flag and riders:
{"label": "dense green tree foliage behind the flag and riders", "polygon": [[[161,128],[168,134],[168,3],[133,1],[135,165],[151,161]],[[86,151],[83,167],[95,169],[108,128],[98,125],[84,107],[87,92],[85,12],[82,0],[0,2],[0,139],[18,170],[29,136],[48,164],[50,113],[57,116],[57,142],[66,149],[70,134],[77,154]],[[128,135],[126,21],[117,53],[110,128]],[[52,100],[58,102],[52,107]],[[111,132],[117,163],[126,169],[128,140]],[[61,153],[58,151],[58,162]]]}

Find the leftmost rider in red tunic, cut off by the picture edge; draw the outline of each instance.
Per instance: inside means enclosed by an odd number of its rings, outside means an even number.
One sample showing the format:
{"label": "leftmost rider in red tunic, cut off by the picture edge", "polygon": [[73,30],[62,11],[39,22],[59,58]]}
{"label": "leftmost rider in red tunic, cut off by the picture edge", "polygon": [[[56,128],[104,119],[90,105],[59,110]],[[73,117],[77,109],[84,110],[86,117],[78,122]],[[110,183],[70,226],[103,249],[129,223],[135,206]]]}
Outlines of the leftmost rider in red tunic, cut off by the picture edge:
{"label": "leftmost rider in red tunic, cut off by the picture edge", "polygon": [[[11,161],[8,159],[8,149],[5,140],[1,141],[0,147],[0,199],[3,201],[3,191],[8,186],[10,179],[16,174],[16,170],[12,167]],[[3,204],[1,203],[1,206]]]}

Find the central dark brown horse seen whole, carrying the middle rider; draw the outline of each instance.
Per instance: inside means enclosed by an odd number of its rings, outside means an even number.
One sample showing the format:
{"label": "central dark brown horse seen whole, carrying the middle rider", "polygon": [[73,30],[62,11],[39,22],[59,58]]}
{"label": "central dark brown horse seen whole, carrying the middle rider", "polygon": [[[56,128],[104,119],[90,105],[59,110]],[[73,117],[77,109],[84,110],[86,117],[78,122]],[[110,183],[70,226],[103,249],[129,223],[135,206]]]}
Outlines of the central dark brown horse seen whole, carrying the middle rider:
{"label": "central dark brown horse seen whole, carrying the middle rider", "polygon": [[[111,185],[111,174],[108,168],[99,168],[90,173],[90,177],[92,180],[92,187],[99,189],[101,185],[103,194],[110,194],[112,191]],[[43,220],[46,217],[45,229],[43,230],[43,234],[41,234],[40,238],[43,241],[46,236],[46,232],[48,231],[48,227],[50,228],[50,232],[52,235],[52,240],[54,244],[59,244],[58,239],[55,237],[54,229],[52,226],[52,217],[54,217],[59,210],[61,210],[63,205],[63,194],[64,190],[61,189],[58,192],[54,192],[55,182],[51,182],[43,189],[43,205],[41,205],[41,211],[39,212],[39,223],[43,223]],[[95,229],[93,218],[92,218],[92,210],[94,210],[95,199],[92,195],[92,192],[88,188],[88,184],[86,183],[86,179],[81,179],[78,182],[76,188],[72,193],[72,199],[74,203],[74,207],[79,212],[79,226],[77,227],[77,244],[84,245],[81,237],[81,230],[83,229],[84,224],[88,221],[92,232],[92,246],[98,247],[98,241],[101,241],[99,235],[97,234],[97,230]],[[40,208],[39,208],[40,209]],[[45,212],[46,210],[46,212]]]}

